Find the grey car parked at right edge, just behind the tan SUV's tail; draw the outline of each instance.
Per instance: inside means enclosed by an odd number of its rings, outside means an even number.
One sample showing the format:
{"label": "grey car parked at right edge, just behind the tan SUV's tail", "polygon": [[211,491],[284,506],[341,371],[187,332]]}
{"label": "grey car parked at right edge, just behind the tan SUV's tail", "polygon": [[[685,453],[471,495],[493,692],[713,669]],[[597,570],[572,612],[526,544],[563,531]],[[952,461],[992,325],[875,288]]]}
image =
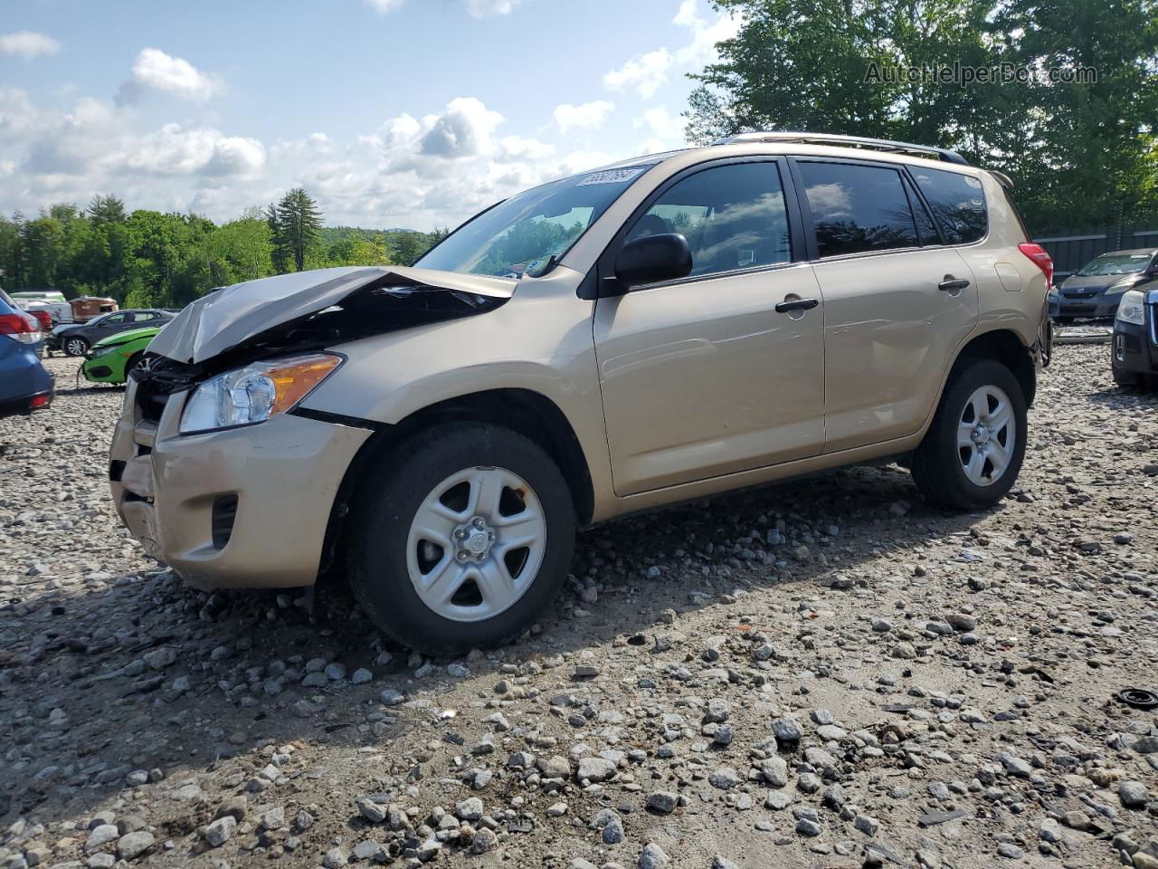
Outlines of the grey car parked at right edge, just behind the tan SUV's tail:
{"label": "grey car parked at right edge, just behind the tan SUV's tail", "polygon": [[1112,319],[1122,293],[1155,279],[1158,279],[1158,249],[1102,254],[1049,293],[1049,315],[1062,323],[1076,317]]}

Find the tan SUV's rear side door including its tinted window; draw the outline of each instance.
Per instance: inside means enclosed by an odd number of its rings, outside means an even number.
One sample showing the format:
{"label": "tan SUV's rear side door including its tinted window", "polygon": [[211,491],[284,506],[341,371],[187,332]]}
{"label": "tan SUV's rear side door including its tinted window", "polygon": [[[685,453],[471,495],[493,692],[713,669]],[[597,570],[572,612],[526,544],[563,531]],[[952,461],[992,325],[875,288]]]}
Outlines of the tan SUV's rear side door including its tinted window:
{"label": "tan SUV's rear side door including its tinted window", "polygon": [[824,452],[916,432],[977,320],[977,287],[904,168],[797,158],[824,298]]}

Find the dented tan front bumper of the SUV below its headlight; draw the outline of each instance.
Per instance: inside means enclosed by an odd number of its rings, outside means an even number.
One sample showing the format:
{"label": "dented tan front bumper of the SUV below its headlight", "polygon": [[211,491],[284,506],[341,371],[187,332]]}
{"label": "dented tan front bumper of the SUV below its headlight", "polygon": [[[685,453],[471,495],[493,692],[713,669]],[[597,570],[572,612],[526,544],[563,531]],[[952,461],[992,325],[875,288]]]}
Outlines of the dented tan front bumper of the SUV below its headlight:
{"label": "dented tan front bumper of the SUV below its headlight", "polygon": [[313,584],[335,496],[369,430],[283,414],[181,436],[184,394],[152,422],[135,393],[130,380],[110,480],[146,552],[204,589]]}

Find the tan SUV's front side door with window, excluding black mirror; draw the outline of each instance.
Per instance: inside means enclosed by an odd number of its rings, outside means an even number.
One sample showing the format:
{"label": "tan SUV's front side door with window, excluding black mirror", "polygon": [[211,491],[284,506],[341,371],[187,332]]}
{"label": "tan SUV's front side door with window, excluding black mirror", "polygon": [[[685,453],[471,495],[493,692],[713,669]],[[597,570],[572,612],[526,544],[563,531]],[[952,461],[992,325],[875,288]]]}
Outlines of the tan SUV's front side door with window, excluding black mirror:
{"label": "tan SUV's front side door with window, excluding black mirror", "polygon": [[[600,261],[683,234],[686,278],[596,301],[595,353],[618,495],[821,452],[823,304],[776,160],[696,167],[660,188]],[[606,282],[601,282],[606,283]],[[777,306],[780,307],[777,311]]]}

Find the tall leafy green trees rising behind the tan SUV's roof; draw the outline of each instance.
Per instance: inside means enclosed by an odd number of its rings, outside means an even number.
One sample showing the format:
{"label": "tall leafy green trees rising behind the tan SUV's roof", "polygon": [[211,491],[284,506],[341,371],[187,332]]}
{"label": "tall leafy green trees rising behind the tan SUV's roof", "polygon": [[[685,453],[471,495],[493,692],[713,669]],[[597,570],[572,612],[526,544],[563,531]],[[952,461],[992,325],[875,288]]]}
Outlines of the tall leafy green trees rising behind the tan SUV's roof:
{"label": "tall leafy green trees rising behind the tan SUV's roof", "polygon": [[[694,141],[808,130],[939,145],[1010,174],[1039,229],[1158,214],[1158,0],[717,6],[742,24],[691,76]],[[967,87],[897,75],[954,63],[1027,72]]]}

